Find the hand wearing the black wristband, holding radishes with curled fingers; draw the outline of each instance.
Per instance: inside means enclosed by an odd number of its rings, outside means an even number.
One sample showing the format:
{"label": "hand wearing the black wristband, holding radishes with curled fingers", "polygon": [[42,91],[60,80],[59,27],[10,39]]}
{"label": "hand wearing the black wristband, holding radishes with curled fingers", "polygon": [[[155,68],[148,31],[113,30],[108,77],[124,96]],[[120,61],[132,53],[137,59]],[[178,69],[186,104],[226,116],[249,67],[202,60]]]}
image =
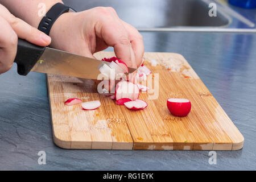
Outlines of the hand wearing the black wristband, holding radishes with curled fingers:
{"label": "hand wearing the black wristband, holding radishes with curled fingers", "polygon": [[114,47],[118,59],[129,67],[141,65],[144,53],[142,35],[118,18],[112,7],[96,7],[80,13],[65,13],[53,24],[51,47],[78,55]]}

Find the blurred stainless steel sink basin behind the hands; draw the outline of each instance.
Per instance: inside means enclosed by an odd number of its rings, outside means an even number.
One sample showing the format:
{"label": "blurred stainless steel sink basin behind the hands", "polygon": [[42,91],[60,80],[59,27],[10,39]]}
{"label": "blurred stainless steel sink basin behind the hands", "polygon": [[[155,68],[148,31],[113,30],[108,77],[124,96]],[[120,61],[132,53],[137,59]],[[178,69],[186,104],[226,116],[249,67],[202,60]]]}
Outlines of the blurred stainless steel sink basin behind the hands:
{"label": "blurred stainless steel sink basin behind the hands", "polygon": [[[230,28],[232,17],[217,7],[210,17],[210,0],[63,0],[77,11],[111,6],[121,19],[141,31],[218,31]],[[225,29],[226,30],[226,29]]]}

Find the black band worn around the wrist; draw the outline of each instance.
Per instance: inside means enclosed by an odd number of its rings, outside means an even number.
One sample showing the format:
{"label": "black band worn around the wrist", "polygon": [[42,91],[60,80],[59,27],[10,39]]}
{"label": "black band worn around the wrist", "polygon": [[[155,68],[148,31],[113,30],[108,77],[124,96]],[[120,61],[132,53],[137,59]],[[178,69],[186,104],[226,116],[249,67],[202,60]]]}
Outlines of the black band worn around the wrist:
{"label": "black band worn around the wrist", "polygon": [[56,3],[49,9],[46,15],[41,20],[38,30],[49,35],[53,23],[59,18],[60,15],[68,12],[76,12],[71,7],[65,6],[62,3]]}

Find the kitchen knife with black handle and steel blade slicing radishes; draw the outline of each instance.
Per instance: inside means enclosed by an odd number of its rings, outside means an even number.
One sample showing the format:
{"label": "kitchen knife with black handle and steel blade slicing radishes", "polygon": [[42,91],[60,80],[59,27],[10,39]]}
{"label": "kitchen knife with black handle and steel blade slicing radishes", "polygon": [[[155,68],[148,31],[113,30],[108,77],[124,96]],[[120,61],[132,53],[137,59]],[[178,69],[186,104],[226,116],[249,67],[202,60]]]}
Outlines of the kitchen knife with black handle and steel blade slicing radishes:
{"label": "kitchen knife with black handle and steel blade slicing radishes", "polygon": [[[97,80],[99,68],[109,62],[75,55],[49,47],[40,47],[23,39],[18,39],[18,49],[14,60],[19,75],[30,71],[56,75],[73,76]],[[128,68],[129,73],[135,68]]]}

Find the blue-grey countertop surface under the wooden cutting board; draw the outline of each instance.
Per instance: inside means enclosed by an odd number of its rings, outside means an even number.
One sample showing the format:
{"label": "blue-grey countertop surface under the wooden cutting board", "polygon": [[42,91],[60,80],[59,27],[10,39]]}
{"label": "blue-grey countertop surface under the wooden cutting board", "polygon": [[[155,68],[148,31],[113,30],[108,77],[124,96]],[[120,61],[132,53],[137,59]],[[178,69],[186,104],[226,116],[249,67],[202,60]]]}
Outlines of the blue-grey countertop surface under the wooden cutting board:
{"label": "blue-grey countertop surface under the wooden cutting board", "polygon": [[[242,150],[64,150],[52,140],[46,75],[0,75],[0,169],[255,170],[256,34],[142,32],[147,52],[180,53],[245,137]],[[108,49],[111,50],[111,49]],[[38,164],[38,152],[46,164]]]}

